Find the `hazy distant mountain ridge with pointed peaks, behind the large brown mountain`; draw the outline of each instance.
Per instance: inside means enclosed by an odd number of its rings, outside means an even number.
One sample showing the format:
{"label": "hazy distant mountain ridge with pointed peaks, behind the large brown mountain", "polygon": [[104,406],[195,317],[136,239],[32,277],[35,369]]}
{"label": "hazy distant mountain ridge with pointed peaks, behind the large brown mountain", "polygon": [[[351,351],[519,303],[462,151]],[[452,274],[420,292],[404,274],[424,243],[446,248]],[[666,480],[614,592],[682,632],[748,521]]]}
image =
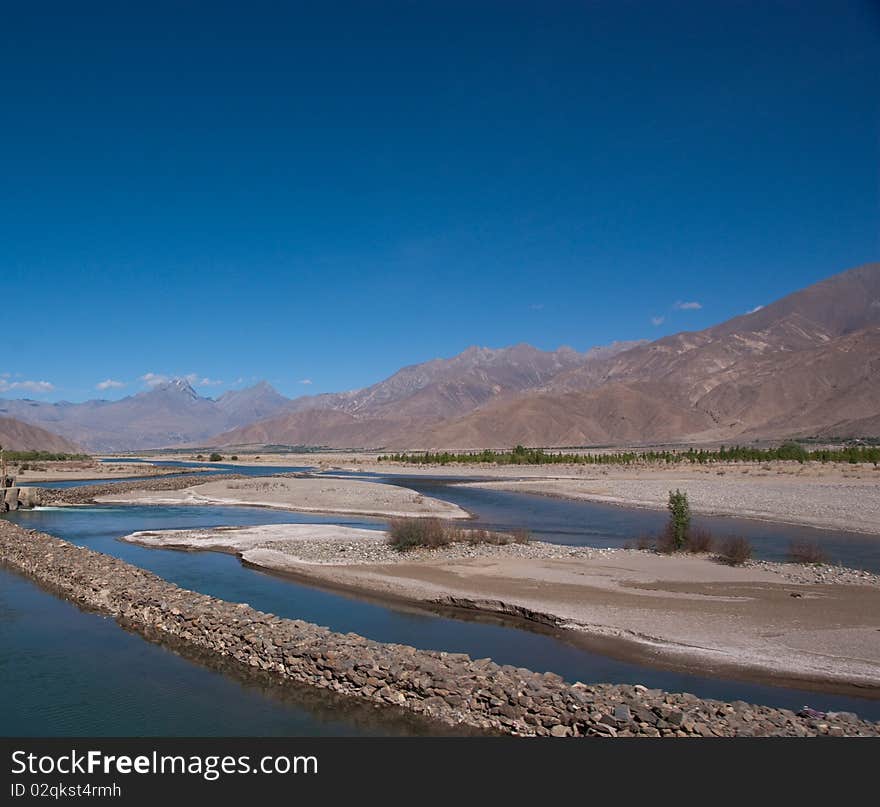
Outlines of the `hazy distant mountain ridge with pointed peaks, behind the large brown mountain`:
{"label": "hazy distant mountain ridge with pointed peaks, behind the large brown mountain", "polygon": [[[177,378],[118,401],[0,400],[0,415],[49,429],[97,452],[206,445],[218,433],[288,415],[299,423],[295,433],[303,438],[293,443],[309,443],[330,432],[335,435],[331,440],[372,440],[392,437],[403,425],[415,430],[466,414],[634,344],[638,343],[586,353],[571,348],[542,351],[530,345],[473,347],[451,359],[405,367],[364,389],[296,399],[285,398],[266,381],[217,399],[205,398],[186,379]],[[370,424],[367,432],[364,422]],[[255,434],[265,434],[264,442],[290,442],[272,439],[272,432],[259,427]]]}

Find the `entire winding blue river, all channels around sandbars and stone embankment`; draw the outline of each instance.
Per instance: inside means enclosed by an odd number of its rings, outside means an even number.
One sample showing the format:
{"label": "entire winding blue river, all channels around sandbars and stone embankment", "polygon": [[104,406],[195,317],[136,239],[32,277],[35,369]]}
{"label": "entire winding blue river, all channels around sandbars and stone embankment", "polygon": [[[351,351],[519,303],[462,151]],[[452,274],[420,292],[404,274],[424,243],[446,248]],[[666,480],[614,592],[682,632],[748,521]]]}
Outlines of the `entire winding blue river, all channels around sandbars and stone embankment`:
{"label": "entire winding blue river, all channels around sandbars and stone embankment", "polygon": [[[217,472],[241,466],[218,467]],[[279,469],[248,468],[265,475]],[[304,470],[291,467],[286,470]],[[663,514],[612,505],[450,485],[447,480],[394,477],[427,495],[454,501],[496,529],[526,526],[542,540],[615,546],[655,531]],[[380,520],[319,516],[247,507],[44,508],[7,516],[29,529],[116,555],[180,586],[260,610],[296,617],[341,632],[421,648],[489,656],[502,664],[552,670],[569,680],[642,683],[721,700],[746,700],[798,709],[855,711],[880,719],[880,700],[832,695],[746,681],[688,675],[590,652],[544,628],[520,628],[492,618],[446,613],[354,598],[243,567],[216,553],[146,549],[117,540],[136,530],[223,524],[336,523],[381,529]],[[764,556],[787,545],[801,528],[735,519],[701,519],[720,532],[748,534]],[[737,523],[733,523],[737,522]],[[739,523],[742,522],[742,523]],[[858,556],[864,568],[880,558],[867,536],[819,533],[825,545]],[[723,533],[721,533],[723,534]],[[848,564],[849,565],[849,564]],[[392,720],[348,701],[318,698],[270,682],[254,682],[210,660],[178,655],[120,629],[112,620],[78,610],[0,568],[0,689],[3,734],[33,735],[315,735],[413,734],[423,724]],[[323,698],[323,700],[322,700]],[[217,709],[216,704],[223,708]]]}

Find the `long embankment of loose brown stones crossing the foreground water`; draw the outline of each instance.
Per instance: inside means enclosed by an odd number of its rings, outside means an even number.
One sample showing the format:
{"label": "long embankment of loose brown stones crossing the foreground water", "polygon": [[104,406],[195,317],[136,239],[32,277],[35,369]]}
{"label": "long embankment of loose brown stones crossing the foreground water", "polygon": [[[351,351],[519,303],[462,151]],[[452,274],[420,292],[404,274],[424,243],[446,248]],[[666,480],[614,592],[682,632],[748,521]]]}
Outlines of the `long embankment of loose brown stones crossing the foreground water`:
{"label": "long embankment of loose brown stones crossing the foreground water", "polygon": [[848,713],[795,714],[638,685],[569,684],[490,659],[334,633],[181,589],[118,558],[8,522],[0,522],[0,561],[142,633],[452,726],[554,737],[880,736],[880,724]]}

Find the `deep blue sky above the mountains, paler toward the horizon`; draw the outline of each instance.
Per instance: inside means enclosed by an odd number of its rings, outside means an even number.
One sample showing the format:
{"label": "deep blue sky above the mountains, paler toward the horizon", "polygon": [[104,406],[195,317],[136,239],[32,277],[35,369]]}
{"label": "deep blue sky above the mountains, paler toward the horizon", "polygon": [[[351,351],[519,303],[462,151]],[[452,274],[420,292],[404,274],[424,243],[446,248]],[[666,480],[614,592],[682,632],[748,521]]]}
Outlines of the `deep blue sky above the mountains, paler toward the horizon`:
{"label": "deep blue sky above the mountains, paler toward the horizon", "polygon": [[348,389],[880,258],[876,2],[133,5],[4,8],[3,395]]}

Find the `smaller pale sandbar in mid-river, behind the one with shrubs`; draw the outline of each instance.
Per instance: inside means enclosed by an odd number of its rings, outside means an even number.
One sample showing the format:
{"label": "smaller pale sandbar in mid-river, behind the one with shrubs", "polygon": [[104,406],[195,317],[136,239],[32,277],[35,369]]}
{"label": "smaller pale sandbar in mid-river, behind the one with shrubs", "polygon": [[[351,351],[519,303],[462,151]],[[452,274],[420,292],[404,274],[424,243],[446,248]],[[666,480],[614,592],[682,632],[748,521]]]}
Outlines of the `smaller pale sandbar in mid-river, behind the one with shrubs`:
{"label": "smaller pale sandbar in mid-river, behind the one with shrubs", "polygon": [[375,517],[436,516],[468,518],[448,502],[414,490],[352,479],[257,477],[207,482],[177,491],[132,491],[96,497],[101,503],[249,505],[309,513],[347,513]]}

